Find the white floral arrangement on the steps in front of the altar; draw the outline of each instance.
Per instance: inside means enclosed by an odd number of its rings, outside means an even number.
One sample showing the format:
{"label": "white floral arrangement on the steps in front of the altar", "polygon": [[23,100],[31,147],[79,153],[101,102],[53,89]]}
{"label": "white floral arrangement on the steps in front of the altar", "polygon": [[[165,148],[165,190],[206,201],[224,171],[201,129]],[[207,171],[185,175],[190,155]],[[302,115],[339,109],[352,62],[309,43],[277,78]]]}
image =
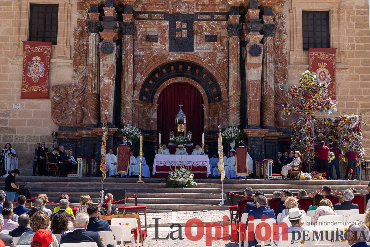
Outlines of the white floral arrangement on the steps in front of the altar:
{"label": "white floral arrangement on the steps in front of the altar", "polygon": [[172,188],[187,188],[197,185],[194,182],[194,175],[185,166],[176,166],[175,170],[171,169],[166,181],[166,186]]}

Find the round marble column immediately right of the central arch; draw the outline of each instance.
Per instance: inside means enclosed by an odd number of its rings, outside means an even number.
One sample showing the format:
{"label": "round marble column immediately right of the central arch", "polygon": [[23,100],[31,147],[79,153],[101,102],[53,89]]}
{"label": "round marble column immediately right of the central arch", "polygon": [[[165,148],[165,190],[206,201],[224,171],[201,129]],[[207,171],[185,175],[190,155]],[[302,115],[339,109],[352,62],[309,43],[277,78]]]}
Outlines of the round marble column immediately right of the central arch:
{"label": "round marble column immediately right of the central arch", "polygon": [[240,125],[240,31],[238,16],[229,16],[229,126]]}

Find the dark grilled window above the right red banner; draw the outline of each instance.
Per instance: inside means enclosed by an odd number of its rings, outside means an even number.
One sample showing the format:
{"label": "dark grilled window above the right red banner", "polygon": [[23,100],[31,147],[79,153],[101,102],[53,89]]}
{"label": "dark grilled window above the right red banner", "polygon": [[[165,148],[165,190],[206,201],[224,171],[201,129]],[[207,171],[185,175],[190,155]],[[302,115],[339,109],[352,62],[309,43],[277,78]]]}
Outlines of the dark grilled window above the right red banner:
{"label": "dark grilled window above the right red banner", "polygon": [[329,11],[302,11],[303,50],[329,48]]}

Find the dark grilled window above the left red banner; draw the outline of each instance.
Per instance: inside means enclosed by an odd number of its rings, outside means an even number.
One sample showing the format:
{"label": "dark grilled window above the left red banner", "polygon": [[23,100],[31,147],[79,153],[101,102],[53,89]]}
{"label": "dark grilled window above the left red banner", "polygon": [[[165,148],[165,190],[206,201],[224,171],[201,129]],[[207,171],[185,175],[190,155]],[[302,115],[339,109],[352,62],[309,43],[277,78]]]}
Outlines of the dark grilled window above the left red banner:
{"label": "dark grilled window above the left red banner", "polygon": [[58,4],[31,4],[29,41],[47,41],[57,44]]}

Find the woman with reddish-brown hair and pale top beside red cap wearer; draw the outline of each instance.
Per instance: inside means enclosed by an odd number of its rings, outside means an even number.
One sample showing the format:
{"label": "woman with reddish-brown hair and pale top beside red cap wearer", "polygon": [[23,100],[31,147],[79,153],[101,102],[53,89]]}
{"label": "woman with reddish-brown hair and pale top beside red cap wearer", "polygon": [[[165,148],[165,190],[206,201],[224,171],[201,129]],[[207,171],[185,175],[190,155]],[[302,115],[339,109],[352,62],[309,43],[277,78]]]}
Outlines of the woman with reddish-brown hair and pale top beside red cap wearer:
{"label": "woman with reddish-brown hair and pale top beside red cap wearer", "polygon": [[[40,229],[47,230],[50,225],[50,218],[44,211],[37,211],[30,218],[30,227],[32,231],[27,231],[21,235],[21,238],[18,241],[18,245],[28,245],[31,244],[33,236]],[[58,247],[58,241],[54,238],[53,247]]]}

